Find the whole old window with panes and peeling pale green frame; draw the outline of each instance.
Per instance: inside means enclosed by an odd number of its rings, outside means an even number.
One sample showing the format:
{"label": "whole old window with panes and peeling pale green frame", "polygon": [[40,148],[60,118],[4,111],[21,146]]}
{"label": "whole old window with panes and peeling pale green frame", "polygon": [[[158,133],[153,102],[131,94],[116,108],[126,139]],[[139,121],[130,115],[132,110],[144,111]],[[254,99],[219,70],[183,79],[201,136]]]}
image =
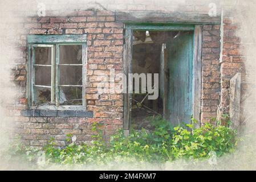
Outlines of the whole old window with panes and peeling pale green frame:
{"label": "whole old window with panes and peeling pale green frame", "polygon": [[29,35],[31,109],[84,110],[86,35]]}

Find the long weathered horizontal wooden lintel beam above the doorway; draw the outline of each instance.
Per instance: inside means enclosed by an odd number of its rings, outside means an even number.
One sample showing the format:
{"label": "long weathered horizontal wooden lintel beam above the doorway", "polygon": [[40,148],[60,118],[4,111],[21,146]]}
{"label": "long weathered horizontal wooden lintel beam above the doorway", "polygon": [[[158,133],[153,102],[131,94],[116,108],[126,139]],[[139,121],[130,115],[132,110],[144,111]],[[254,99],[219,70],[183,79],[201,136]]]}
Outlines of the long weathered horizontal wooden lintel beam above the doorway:
{"label": "long weathered horizontal wooden lintel beam above the doorway", "polygon": [[119,22],[148,22],[148,23],[192,23],[192,24],[220,24],[220,15],[209,16],[208,14],[188,13],[154,13],[116,12],[115,19]]}

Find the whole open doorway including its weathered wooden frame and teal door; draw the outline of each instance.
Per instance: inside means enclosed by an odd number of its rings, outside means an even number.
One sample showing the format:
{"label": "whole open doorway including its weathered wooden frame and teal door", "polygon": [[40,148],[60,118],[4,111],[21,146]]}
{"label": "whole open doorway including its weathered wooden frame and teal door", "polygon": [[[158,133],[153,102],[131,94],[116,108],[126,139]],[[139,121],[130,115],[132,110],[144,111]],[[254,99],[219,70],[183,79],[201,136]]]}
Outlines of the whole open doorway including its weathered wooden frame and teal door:
{"label": "whole open doorway including its weathered wooden frame and teal door", "polygon": [[[128,25],[124,71],[159,74],[159,97],[148,100],[147,92],[125,94],[124,129],[151,129],[148,117],[155,115],[161,115],[174,126],[189,123],[192,116],[200,119],[200,43],[201,26],[165,25],[159,30],[156,26]],[[195,71],[200,71],[200,76]]]}

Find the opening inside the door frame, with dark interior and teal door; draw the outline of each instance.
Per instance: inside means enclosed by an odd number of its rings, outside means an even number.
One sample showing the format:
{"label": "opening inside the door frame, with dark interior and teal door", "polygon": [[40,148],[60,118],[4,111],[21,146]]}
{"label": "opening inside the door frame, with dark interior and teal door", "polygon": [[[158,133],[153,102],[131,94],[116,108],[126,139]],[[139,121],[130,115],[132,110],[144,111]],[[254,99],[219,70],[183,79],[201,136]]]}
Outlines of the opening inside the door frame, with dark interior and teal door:
{"label": "opening inside the door frame, with dark interior and teal door", "polygon": [[148,117],[155,115],[174,125],[190,122],[193,31],[133,31],[132,44],[132,73],[159,74],[156,100],[149,100],[148,92],[133,92],[132,127],[151,129]]}

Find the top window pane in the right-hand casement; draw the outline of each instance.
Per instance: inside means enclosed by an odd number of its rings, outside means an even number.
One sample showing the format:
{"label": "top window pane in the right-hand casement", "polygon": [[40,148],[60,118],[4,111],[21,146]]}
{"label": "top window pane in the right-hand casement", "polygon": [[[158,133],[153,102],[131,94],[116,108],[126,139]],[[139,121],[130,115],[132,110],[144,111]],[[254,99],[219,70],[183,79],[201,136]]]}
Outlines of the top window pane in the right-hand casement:
{"label": "top window pane in the right-hand casement", "polygon": [[82,45],[59,46],[60,64],[82,64]]}

